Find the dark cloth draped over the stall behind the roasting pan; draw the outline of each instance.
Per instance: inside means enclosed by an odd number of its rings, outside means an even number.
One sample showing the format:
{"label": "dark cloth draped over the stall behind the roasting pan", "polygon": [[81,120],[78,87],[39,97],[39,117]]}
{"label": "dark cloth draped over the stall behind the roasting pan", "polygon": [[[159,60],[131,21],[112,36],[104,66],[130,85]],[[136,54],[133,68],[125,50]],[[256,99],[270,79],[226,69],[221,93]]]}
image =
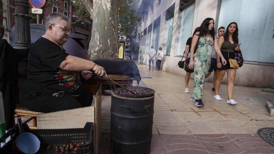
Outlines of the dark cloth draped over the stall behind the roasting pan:
{"label": "dark cloth draped over the stall behind the roasting pan", "polygon": [[105,68],[108,74],[123,74],[134,78],[137,83],[141,81],[139,69],[133,60],[96,59],[93,61]]}

